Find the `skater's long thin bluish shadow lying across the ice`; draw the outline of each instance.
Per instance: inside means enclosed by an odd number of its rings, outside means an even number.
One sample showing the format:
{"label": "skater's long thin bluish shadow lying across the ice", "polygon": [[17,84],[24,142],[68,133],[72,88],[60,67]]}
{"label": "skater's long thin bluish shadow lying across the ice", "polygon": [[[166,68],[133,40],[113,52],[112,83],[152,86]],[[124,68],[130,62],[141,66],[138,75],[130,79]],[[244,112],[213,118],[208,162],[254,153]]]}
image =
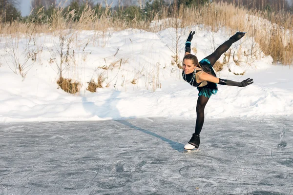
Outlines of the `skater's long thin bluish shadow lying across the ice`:
{"label": "skater's long thin bluish shadow lying across the ice", "polygon": [[116,120],[116,121],[124,124],[125,126],[128,126],[128,127],[132,128],[132,129],[136,129],[136,130],[139,130],[139,131],[141,131],[141,132],[143,132],[145,134],[151,135],[153,137],[160,138],[160,139],[162,139],[162,141],[165,141],[168,144],[170,144],[170,146],[174,150],[177,150],[178,152],[183,152],[184,145],[182,143],[178,143],[176,141],[172,141],[170,139],[167,139],[166,137],[159,136],[158,134],[155,134],[153,132],[150,132],[150,131],[148,131],[146,129],[142,129],[140,127],[137,127],[137,126],[131,124],[130,122],[126,121],[126,120]]}

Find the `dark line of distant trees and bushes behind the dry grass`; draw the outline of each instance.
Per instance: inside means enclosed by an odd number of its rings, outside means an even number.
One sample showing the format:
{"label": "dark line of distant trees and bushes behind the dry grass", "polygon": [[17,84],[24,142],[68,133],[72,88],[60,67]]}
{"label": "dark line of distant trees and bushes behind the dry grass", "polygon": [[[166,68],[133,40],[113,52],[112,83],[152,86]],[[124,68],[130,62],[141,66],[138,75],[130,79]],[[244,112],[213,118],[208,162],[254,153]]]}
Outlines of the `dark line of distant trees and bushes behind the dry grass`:
{"label": "dark line of distant trees and bushes behind the dry grass", "polygon": [[[95,4],[93,0],[70,0],[63,7],[64,17],[68,17],[70,13],[74,21],[79,21],[84,9],[91,8],[95,10],[97,17],[101,17],[103,13],[108,12],[113,18],[119,17],[126,22],[136,20],[153,20],[155,16],[166,8],[168,12],[172,12],[174,7],[180,6],[199,6],[212,2],[228,2],[237,6],[244,6],[248,9],[262,10],[266,12],[285,11],[292,13],[293,6],[287,0],[119,0],[118,5],[106,9],[106,6]],[[32,0],[32,12],[29,16],[21,17],[18,9],[18,0],[0,0],[0,21],[12,22],[19,20],[23,22],[39,22],[47,23],[56,9],[60,8],[56,0]],[[72,14],[74,13],[74,14]]]}

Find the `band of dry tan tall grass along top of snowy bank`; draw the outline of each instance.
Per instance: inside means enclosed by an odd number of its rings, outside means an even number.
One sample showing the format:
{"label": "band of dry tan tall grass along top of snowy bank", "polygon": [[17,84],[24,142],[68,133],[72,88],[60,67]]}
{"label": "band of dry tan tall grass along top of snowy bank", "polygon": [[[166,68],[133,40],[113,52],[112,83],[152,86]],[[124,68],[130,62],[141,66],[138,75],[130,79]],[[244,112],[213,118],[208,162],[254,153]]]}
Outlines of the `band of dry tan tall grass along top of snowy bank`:
{"label": "band of dry tan tall grass along top of snowy bank", "polygon": [[[102,10],[102,7],[100,9]],[[172,9],[172,16],[170,16],[168,9]],[[110,7],[106,7],[101,12],[100,17],[97,17],[94,10],[87,6],[81,19],[76,22],[72,20],[74,11],[68,12],[67,17],[64,18],[63,8],[58,8],[52,17],[48,19],[48,23],[39,24],[34,23],[34,21],[30,23],[19,21],[14,21],[10,24],[1,23],[0,34],[11,36],[22,33],[31,36],[32,33],[55,33],[60,32],[60,30],[74,29],[77,31],[95,30],[102,32],[102,36],[106,37],[108,29],[119,31],[126,28],[137,28],[157,32],[168,27],[184,28],[191,25],[205,24],[205,27],[212,32],[216,32],[221,27],[228,27],[226,29],[233,32],[249,32],[249,36],[259,43],[266,55],[271,55],[275,61],[280,61],[283,64],[292,64],[293,62],[293,17],[289,13],[251,11],[223,2],[199,7],[181,7],[179,9],[162,7],[161,13],[155,17],[155,20],[161,20],[161,25],[151,27],[151,21],[147,20],[134,19],[131,22],[126,22],[120,18],[112,18]],[[42,13],[39,14],[39,17],[42,17]],[[179,20],[163,20],[170,17]],[[270,22],[265,22],[265,20],[261,19],[266,19]],[[253,43],[251,45],[253,46]]]}

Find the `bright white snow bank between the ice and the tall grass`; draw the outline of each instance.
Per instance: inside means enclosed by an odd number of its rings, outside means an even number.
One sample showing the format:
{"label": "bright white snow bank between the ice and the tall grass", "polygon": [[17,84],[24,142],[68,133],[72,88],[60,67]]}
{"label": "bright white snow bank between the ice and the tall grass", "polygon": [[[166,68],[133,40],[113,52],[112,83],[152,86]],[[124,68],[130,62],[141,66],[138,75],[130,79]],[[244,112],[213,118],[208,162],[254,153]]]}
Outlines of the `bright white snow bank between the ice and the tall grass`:
{"label": "bright white snow bank between the ice and the tall grass", "polygon": [[[190,30],[196,32],[191,53],[199,60],[235,33],[205,29],[201,25],[179,29],[180,63]],[[0,37],[0,122],[196,117],[198,91],[181,78],[182,70],[172,64],[176,29],[158,33],[137,29],[104,34],[63,32],[63,57],[68,56],[63,62],[63,77],[81,83],[80,93],[75,95],[64,92],[56,83],[59,36],[57,32],[33,39]],[[253,78],[254,83],[245,88],[220,85],[217,95],[209,100],[206,117],[293,116],[292,66],[273,63],[249,32],[219,61],[226,61],[223,70],[217,72],[219,78]],[[24,68],[24,78],[16,68],[18,64]],[[88,82],[97,82],[99,76],[103,88],[95,93],[87,91]]]}

